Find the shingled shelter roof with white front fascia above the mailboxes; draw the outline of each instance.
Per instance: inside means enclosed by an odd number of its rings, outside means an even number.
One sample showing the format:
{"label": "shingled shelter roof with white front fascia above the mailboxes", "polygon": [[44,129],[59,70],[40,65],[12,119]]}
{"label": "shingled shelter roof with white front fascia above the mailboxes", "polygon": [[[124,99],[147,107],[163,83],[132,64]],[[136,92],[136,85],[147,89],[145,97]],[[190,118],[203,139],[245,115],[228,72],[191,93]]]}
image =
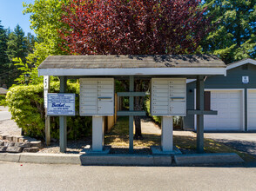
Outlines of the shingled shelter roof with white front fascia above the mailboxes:
{"label": "shingled shelter roof with white front fascia above the mailboxes", "polygon": [[38,71],[39,76],[225,75],[226,65],[210,55],[48,56]]}

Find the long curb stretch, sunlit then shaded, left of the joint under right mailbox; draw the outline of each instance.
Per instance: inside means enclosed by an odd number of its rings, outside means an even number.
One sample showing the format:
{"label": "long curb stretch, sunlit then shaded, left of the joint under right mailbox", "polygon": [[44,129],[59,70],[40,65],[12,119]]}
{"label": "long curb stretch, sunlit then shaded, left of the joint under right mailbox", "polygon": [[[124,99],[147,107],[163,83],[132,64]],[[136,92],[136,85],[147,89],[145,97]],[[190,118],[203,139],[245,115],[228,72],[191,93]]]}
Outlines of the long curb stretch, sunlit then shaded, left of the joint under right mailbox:
{"label": "long curb stretch, sunlit then shaded, left of the joint under right mailbox", "polygon": [[171,155],[80,155],[42,153],[1,153],[0,161],[40,164],[171,166]]}

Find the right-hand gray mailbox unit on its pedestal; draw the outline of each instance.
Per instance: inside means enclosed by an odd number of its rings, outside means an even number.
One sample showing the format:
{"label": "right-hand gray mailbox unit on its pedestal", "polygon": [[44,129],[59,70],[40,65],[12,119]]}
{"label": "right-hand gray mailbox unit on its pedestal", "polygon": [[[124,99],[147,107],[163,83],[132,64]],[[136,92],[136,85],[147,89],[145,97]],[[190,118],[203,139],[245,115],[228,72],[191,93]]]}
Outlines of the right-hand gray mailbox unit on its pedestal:
{"label": "right-hand gray mailbox unit on its pedestal", "polygon": [[173,115],[186,114],[186,79],[152,78],[151,114],[163,116],[161,122],[161,151],[173,152]]}

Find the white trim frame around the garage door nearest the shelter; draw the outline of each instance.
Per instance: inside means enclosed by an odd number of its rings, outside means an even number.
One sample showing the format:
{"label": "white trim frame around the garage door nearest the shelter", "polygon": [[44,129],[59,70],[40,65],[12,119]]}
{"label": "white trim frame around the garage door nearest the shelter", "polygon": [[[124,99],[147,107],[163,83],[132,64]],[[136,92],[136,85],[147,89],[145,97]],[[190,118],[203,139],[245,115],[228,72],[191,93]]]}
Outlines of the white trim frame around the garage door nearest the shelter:
{"label": "white trim frame around the garage door nearest the shelter", "polygon": [[[246,120],[246,116],[245,116],[245,89],[204,89],[204,91],[242,91],[242,128],[241,130],[245,131],[245,120]],[[248,97],[248,96],[247,96]],[[196,109],[196,89],[194,89],[194,109]],[[248,115],[247,115],[248,117]],[[194,115],[194,129],[197,129],[197,115]],[[204,129],[205,130],[205,129]]]}

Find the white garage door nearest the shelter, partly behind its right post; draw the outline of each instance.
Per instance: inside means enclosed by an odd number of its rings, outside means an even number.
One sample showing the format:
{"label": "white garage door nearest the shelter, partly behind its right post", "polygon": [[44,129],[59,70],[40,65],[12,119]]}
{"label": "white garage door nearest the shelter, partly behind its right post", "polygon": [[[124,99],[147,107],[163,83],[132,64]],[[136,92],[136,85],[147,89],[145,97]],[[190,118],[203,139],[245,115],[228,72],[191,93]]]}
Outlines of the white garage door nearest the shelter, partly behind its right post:
{"label": "white garage door nearest the shelter, partly behind its right post", "polygon": [[205,130],[243,130],[241,90],[211,90],[211,109],[218,115],[205,115]]}

